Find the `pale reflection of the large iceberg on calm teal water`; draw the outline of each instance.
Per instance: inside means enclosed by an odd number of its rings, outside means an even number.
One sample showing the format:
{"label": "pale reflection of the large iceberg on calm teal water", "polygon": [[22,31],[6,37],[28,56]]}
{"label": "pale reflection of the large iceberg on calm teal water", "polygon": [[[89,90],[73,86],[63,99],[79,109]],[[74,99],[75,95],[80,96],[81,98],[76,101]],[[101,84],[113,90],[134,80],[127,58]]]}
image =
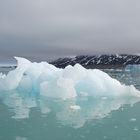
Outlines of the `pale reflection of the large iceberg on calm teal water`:
{"label": "pale reflection of the large iceberg on calm teal water", "polygon": [[83,127],[86,122],[107,117],[112,111],[126,104],[134,105],[140,101],[136,96],[124,97],[92,97],[77,96],[62,100],[45,96],[29,96],[29,94],[12,91],[3,94],[3,103],[13,112],[14,119],[27,119],[32,108],[39,108],[42,114],[54,113],[56,120],[62,125],[74,128]]}

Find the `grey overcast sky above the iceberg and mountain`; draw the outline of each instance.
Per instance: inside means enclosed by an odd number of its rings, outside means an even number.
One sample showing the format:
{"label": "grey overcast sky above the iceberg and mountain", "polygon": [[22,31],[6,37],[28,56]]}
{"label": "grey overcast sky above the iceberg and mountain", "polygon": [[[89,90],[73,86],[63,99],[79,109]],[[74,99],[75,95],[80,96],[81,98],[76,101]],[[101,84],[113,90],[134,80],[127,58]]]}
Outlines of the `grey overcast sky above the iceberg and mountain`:
{"label": "grey overcast sky above the iceberg and mountain", "polygon": [[140,0],[0,0],[0,59],[140,53]]}

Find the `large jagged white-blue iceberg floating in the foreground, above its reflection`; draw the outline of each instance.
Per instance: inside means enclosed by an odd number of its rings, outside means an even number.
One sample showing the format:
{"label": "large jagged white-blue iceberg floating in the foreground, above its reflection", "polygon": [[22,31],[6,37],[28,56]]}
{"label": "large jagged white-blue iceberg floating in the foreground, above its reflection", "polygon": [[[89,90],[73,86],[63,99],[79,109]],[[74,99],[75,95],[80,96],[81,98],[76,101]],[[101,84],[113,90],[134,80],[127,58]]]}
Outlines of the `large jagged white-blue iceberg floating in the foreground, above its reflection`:
{"label": "large jagged white-blue iceberg floating in the foreground, above its reflection", "polygon": [[79,64],[59,69],[47,62],[31,63],[15,57],[17,68],[0,77],[0,90],[39,93],[43,96],[68,99],[81,93],[88,96],[140,96],[134,86],[122,85],[98,69],[87,70]]}

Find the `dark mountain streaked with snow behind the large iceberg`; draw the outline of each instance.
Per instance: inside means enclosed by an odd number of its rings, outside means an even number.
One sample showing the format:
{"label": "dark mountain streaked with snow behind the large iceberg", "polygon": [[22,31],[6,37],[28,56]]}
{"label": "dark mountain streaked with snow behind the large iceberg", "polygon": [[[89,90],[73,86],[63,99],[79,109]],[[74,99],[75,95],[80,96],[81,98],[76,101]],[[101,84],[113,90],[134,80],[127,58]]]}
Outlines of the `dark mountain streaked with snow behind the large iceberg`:
{"label": "dark mountain streaked with snow behind the large iceberg", "polygon": [[76,57],[59,58],[50,62],[59,68],[67,65],[81,64],[85,68],[122,68],[128,64],[140,64],[139,55],[81,55]]}

